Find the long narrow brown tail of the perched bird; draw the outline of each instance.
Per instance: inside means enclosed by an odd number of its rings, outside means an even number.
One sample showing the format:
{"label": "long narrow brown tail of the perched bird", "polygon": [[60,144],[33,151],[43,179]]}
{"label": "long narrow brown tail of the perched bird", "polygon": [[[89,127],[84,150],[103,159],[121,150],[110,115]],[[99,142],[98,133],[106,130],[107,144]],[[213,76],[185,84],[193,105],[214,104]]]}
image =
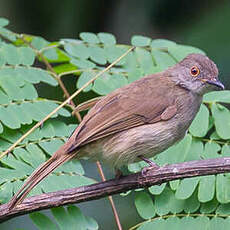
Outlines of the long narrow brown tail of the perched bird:
{"label": "long narrow brown tail of the perched bird", "polygon": [[58,166],[75,157],[75,154],[54,154],[49,160],[38,167],[25,181],[22,188],[12,197],[8,203],[9,210],[21,203],[27,194],[45,177],[53,172]]}

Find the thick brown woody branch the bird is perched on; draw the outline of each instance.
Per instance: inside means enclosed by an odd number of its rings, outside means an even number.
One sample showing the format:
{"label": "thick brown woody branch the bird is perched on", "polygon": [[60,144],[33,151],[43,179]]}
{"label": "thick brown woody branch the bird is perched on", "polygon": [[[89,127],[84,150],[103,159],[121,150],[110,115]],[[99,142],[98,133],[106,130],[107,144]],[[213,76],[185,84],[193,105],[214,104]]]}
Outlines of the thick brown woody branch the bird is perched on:
{"label": "thick brown woody branch the bird is perched on", "polygon": [[144,172],[89,186],[32,196],[13,210],[8,210],[7,204],[1,205],[0,222],[38,210],[96,200],[131,189],[160,185],[172,180],[227,173],[230,172],[230,157],[171,164],[159,169],[148,168]]}

